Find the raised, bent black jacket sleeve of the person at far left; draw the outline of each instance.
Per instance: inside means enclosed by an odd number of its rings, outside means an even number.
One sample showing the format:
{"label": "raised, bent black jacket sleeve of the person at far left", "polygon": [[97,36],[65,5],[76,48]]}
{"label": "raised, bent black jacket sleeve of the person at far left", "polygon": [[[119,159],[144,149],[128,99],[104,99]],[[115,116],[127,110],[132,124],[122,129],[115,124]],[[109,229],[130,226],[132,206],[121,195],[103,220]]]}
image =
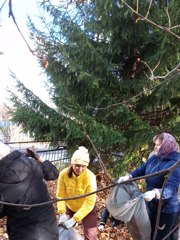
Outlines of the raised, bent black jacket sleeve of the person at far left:
{"label": "raised, bent black jacket sleeve of the person at far left", "polygon": [[44,174],[44,179],[45,180],[56,180],[59,176],[59,171],[57,168],[48,160],[44,161],[41,163],[42,164],[42,169],[43,169],[43,174]]}

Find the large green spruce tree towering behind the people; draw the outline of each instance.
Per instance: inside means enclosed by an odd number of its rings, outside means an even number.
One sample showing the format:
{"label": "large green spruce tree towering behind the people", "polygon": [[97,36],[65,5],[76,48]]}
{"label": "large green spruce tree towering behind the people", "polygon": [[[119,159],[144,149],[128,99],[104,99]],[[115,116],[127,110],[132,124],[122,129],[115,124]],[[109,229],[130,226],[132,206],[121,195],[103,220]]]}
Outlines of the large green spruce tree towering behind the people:
{"label": "large green spruce tree towering behind the people", "polygon": [[[136,9],[137,1],[127,1]],[[65,4],[65,3],[64,3]],[[89,4],[55,6],[42,1],[46,28],[30,22],[39,54],[48,58],[45,70],[55,109],[18,82],[23,101],[12,94],[14,122],[36,139],[64,139],[68,148],[85,145],[95,154],[92,142],[105,158],[123,151],[119,171],[140,164],[140,154],[159,131],[180,135],[179,75],[165,76],[179,62],[177,38],[137,16],[123,3],[103,0]],[[149,1],[139,1],[146,15]],[[168,3],[171,24],[178,25],[179,1]],[[168,27],[167,5],[153,2],[149,19]],[[172,29],[179,34],[179,28]],[[143,62],[140,62],[142,60]],[[91,142],[92,141],[92,142]]]}

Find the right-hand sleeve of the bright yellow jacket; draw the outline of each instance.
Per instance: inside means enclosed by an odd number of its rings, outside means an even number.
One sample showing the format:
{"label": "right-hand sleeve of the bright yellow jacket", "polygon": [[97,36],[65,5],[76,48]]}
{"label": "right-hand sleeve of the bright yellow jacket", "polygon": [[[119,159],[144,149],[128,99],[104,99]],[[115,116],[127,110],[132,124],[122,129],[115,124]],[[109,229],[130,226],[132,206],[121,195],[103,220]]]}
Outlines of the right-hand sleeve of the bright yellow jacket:
{"label": "right-hand sleeve of the bright yellow jacket", "polygon": [[[91,176],[89,180],[89,185],[86,189],[86,194],[90,192],[94,192],[97,190],[96,176]],[[95,207],[96,202],[96,194],[89,195],[85,198],[85,201],[82,207],[74,214],[74,219],[76,222],[81,221],[84,217],[86,217]]]}

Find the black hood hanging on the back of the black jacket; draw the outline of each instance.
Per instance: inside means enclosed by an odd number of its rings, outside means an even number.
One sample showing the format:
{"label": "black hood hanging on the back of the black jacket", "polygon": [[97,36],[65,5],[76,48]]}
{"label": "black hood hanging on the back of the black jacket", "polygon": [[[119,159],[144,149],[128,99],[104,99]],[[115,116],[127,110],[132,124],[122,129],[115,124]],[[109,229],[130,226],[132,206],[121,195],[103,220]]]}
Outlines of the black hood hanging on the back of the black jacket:
{"label": "black hood hanging on the back of the black jacket", "polygon": [[0,183],[22,182],[31,175],[32,171],[32,160],[15,150],[0,160]]}

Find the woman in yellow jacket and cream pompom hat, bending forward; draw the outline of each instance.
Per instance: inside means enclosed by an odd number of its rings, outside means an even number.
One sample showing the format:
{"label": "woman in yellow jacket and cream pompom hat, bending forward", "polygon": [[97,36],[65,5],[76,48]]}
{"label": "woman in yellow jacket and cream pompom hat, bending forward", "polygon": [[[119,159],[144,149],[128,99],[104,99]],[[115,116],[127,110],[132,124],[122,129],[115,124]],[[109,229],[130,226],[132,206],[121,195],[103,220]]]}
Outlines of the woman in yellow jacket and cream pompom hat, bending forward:
{"label": "woman in yellow jacket and cream pompom hat, bending forward", "polygon": [[[94,192],[97,189],[96,177],[87,168],[89,165],[88,150],[81,146],[71,158],[71,165],[60,172],[57,186],[57,198],[71,198]],[[96,195],[92,194],[75,200],[59,201],[59,224],[71,228],[82,220],[84,239],[97,239],[97,214],[95,209]]]}

